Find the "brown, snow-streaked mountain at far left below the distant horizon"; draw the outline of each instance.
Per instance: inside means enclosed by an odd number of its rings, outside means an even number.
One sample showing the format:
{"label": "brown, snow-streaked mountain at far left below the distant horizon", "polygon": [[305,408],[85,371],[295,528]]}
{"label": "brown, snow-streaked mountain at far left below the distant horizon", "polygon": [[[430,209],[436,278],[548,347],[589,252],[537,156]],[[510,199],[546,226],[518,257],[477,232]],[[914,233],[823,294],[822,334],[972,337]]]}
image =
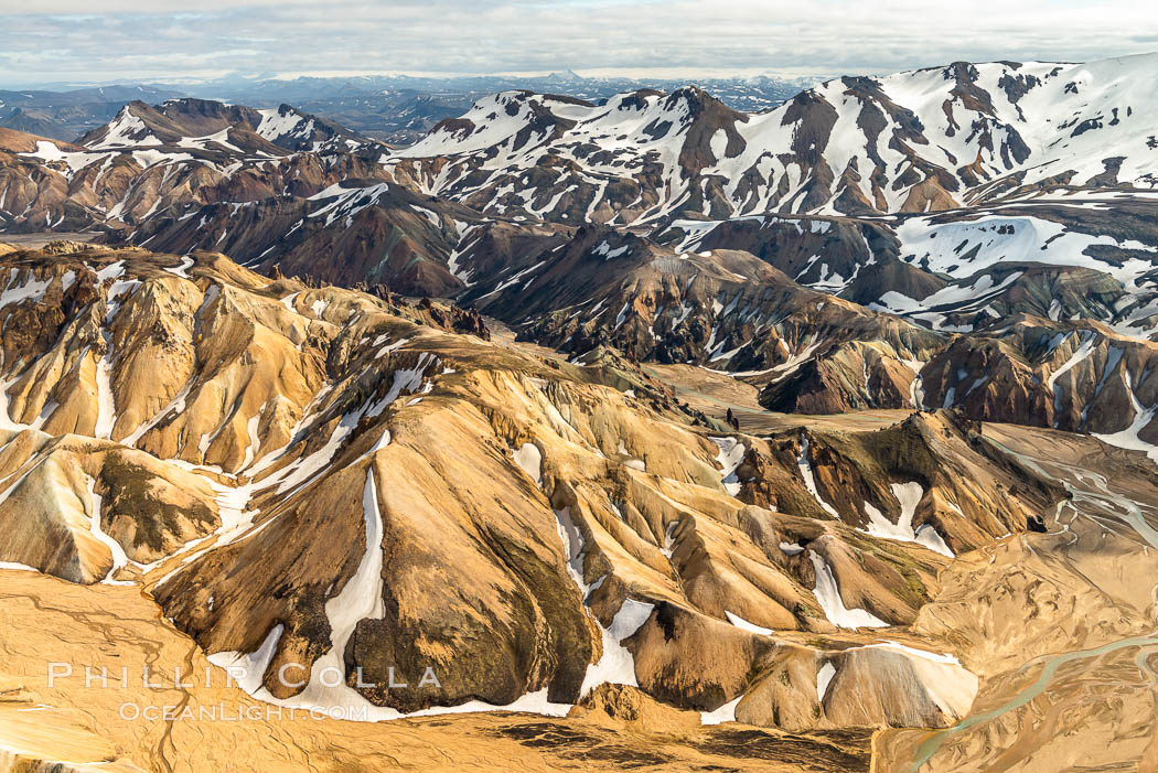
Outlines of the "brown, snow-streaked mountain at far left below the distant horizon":
{"label": "brown, snow-streaked mountain at far left below the distant horizon", "polygon": [[373,179],[386,146],[283,105],[201,100],[126,104],[79,145],[8,133],[0,150],[5,230],[123,229],[190,207],[310,197]]}

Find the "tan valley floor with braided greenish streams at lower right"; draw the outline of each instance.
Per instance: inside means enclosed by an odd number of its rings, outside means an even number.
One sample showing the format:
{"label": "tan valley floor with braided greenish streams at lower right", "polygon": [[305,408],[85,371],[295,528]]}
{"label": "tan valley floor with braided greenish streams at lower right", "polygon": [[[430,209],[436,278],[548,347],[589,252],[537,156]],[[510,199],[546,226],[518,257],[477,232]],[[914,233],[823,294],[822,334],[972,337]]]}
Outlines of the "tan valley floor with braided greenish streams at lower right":
{"label": "tan valley floor with braided greenish streams at lower right", "polygon": [[981,690],[953,727],[878,735],[873,770],[1158,770],[1152,465],[1049,429],[987,425],[985,436],[1062,483],[1069,499],[1046,533],[1007,537],[945,572],[945,590],[915,627],[974,638],[962,660]]}

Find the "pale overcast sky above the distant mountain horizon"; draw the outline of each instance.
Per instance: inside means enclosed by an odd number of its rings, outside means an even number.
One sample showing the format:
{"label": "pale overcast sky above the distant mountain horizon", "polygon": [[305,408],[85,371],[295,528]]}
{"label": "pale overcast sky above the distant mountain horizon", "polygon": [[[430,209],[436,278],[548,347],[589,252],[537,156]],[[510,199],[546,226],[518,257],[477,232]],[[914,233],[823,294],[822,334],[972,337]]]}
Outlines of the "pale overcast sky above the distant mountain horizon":
{"label": "pale overcast sky above the distant mountain horizon", "polygon": [[836,75],[1156,50],[1158,2],[1137,0],[0,0],[8,87],[226,73]]}

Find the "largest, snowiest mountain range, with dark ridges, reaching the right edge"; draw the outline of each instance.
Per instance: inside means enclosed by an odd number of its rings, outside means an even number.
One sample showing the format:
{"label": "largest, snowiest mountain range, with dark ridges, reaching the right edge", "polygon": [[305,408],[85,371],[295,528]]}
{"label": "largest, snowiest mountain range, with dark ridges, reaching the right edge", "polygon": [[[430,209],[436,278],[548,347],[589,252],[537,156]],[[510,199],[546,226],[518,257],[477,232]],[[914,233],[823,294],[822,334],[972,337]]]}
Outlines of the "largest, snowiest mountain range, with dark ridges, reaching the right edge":
{"label": "largest, snowiest mountain range, with dark ridges, reaching the right edge", "polygon": [[958,62],[827,81],[758,115],[695,88],[603,104],[505,93],[395,157],[441,160],[416,176],[483,212],[617,224],[929,212],[1047,185],[1150,189],[1156,66],[1158,54]]}

